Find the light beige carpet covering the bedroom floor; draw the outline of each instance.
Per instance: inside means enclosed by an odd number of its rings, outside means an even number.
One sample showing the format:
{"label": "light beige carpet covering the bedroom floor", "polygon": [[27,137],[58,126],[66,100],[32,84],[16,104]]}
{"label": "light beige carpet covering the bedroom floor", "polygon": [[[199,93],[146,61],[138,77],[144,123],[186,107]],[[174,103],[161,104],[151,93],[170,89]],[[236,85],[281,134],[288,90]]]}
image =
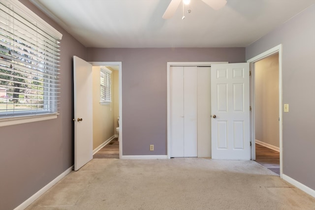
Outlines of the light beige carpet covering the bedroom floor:
{"label": "light beige carpet covering the bedroom floor", "polygon": [[27,210],[315,210],[254,161],[93,159]]}

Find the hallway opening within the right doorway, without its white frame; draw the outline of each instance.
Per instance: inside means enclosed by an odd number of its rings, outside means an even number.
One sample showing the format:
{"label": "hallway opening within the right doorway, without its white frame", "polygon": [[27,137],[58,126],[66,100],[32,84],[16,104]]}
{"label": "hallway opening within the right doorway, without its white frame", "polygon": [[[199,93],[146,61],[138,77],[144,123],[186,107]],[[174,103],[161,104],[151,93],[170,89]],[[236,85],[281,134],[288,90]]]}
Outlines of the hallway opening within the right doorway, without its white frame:
{"label": "hallway opening within the right doorway, without its white frame", "polygon": [[279,53],[254,63],[255,161],[280,175]]}

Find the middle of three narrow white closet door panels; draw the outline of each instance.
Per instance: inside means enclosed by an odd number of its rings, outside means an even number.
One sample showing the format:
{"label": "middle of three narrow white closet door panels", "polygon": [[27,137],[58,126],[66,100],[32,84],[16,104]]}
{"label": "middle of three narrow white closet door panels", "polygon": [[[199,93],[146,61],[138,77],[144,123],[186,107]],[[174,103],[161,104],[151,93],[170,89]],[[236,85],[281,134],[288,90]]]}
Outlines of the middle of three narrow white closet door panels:
{"label": "middle of three narrow white closet door panels", "polygon": [[184,67],[184,157],[197,157],[197,67]]}

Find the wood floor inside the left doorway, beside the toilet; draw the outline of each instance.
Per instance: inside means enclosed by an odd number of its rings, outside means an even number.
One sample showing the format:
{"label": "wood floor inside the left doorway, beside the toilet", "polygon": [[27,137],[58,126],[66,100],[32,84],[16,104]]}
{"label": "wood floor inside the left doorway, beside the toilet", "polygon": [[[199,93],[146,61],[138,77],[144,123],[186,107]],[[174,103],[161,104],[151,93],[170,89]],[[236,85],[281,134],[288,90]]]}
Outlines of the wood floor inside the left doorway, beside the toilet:
{"label": "wood floor inside the left doorway, beside the toilet", "polygon": [[98,150],[93,158],[119,158],[119,141],[118,138],[113,139],[102,149]]}

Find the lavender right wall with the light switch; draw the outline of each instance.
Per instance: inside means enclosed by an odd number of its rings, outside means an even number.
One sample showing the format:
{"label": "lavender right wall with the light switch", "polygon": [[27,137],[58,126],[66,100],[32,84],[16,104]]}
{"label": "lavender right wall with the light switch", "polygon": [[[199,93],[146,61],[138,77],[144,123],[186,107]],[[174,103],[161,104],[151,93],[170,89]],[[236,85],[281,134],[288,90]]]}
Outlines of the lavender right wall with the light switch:
{"label": "lavender right wall with the light switch", "polygon": [[283,44],[284,174],[315,190],[315,4],[246,48],[246,59]]}

